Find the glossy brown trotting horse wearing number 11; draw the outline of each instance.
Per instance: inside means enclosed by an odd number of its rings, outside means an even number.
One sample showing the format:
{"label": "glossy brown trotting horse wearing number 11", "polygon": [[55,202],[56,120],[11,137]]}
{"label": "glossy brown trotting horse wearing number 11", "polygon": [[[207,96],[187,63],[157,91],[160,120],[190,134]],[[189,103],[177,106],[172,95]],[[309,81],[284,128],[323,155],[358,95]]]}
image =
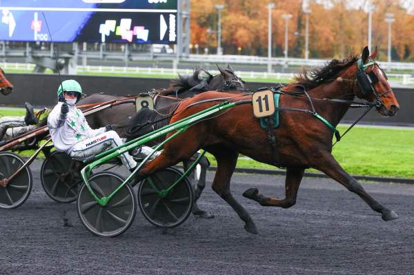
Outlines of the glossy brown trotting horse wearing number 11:
{"label": "glossy brown trotting horse wearing number 11", "polygon": [[[333,139],[331,128],[316,119],[311,112],[297,111],[297,109],[312,111],[315,108],[324,119],[336,126],[348,110],[351,101],[357,96],[368,102],[377,103],[376,108],[380,114],[395,115],[399,105],[386,80],[386,75],[375,63],[376,56],[376,49],[370,57],[366,47],[362,52],[362,64],[358,63],[357,57],[350,57],[343,61],[333,60],[324,68],[299,74],[296,82],[288,84],[279,99],[281,126],[273,130],[276,136],[276,155],[273,154],[273,147],[268,142],[268,132],[261,128],[258,119],[253,116],[251,103],[240,104],[196,123],[176,139],[166,143],[162,154],[142,167],[139,178],[188,159],[197,150],[203,148],[217,159],[213,190],[242,218],[245,223],[244,228],[248,232],[257,234],[252,218],[230,192],[230,178],[235,170],[237,156],[241,153],[262,163],[286,167],[285,198],[268,198],[259,194],[255,188],[244,192],[246,198],[257,201],[260,205],[284,208],[295,205],[304,170],[313,167],[360,196],[375,212],[382,214],[384,221],[397,218],[395,212],[376,201],[337,163],[331,154]],[[364,72],[364,77],[377,78],[377,81],[369,85],[371,90],[367,91],[360,87],[361,84],[357,81],[360,77],[359,72]],[[298,87],[306,89],[312,100],[300,94]],[[251,94],[247,93],[204,92],[183,101],[170,123],[210,108],[219,103],[219,98],[224,96],[233,96],[231,101],[251,100]],[[286,110],[287,108],[290,110]]]}

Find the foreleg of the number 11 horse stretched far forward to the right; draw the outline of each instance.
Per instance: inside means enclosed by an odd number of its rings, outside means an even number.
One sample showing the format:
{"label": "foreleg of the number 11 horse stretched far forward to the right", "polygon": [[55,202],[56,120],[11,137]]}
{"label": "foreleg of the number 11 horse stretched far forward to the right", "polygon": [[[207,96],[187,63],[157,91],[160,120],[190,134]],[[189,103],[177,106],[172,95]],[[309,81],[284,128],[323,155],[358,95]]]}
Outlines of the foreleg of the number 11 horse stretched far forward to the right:
{"label": "foreleg of the number 11 horse stretched far forward to the right", "polygon": [[315,166],[316,169],[324,172],[326,175],[331,176],[332,179],[344,185],[349,191],[357,194],[361,197],[375,212],[382,214],[384,221],[391,221],[398,218],[392,210],[384,207],[381,203],[370,196],[360,183],[358,183],[350,174],[344,171],[344,169],[337,163],[331,153],[326,152],[322,158],[318,158]]}

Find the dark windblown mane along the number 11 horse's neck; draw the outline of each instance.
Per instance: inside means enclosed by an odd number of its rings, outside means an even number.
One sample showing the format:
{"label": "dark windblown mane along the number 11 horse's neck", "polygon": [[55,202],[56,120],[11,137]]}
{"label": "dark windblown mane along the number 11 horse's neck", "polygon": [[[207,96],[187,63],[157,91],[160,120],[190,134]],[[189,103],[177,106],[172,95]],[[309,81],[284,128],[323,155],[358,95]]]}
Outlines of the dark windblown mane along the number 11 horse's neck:
{"label": "dark windblown mane along the number 11 horse's neck", "polygon": [[310,68],[303,70],[295,77],[295,81],[289,83],[286,88],[287,90],[295,89],[301,85],[306,90],[311,90],[319,85],[325,83],[325,81],[331,81],[335,75],[353,65],[357,61],[356,56],[349,56],[343,60],[333,59],[322,68]]}

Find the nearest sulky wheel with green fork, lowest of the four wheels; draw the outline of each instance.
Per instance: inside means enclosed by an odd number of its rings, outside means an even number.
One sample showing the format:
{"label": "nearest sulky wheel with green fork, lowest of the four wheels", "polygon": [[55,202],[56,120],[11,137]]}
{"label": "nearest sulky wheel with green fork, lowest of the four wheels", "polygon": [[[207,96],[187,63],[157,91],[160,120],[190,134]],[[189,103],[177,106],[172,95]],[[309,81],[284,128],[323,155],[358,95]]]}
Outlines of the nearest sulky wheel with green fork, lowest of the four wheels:
{"label": "nearest sulky wheel with green fork, lowest of the four wheels", "polygon": [[[99,198],[108,196],[124,179],[112,172],[100,172],[89,180],[90,187]],[[102,206],[92,197],[86,184],[79,190],[77,198],[79,218],[85,227],[95,235],[113,237],[125,232],[134,221],[137,212],[137,198],[129,184]]]}

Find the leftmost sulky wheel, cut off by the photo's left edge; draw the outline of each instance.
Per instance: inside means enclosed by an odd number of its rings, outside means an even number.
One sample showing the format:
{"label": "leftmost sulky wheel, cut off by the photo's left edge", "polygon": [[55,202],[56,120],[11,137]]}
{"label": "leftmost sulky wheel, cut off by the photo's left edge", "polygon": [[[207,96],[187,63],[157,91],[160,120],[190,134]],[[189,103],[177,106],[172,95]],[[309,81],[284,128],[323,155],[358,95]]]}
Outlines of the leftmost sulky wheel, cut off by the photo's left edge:
{"label": "leftmost sulky wheel, cut off by the photo's left edge", "polygon": [[[25,162],[10,152],[0,152],[0,179],[7,179]],[[0,208],[10,209],[22,205],[32,190],[32,172],[26,166],[6,187],[0,186]]]}

